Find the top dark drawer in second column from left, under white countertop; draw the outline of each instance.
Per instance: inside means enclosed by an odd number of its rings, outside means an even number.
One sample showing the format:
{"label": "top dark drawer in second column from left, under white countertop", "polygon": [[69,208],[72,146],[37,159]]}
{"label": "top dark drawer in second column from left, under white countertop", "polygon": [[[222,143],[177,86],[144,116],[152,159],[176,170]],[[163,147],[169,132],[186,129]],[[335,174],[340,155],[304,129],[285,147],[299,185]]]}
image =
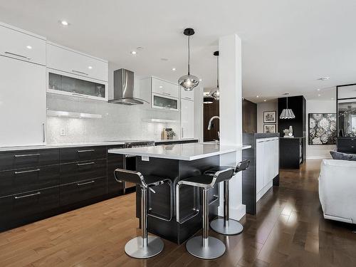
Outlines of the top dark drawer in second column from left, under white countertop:
{"label": "top dark drawer in second column from left, under white countertop", "polygon": [[106,147],[70,147],[61,148],[61,164],[68,162],[80,162],[92,159],[105,159]]}

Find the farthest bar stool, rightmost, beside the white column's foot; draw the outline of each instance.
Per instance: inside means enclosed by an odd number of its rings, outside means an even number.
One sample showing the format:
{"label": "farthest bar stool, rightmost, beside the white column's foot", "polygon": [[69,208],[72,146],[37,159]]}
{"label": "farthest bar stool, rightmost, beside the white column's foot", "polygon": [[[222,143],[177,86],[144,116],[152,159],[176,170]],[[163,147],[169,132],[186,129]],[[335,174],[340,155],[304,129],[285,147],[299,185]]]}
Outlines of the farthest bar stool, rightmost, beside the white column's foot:
{"label": "farthest bar stool, rightmost, beside the white column's foot", "polygon": [[[235,168],[233,176],[247,169],[249,164],[250,161],[248,159],[239,162]],[[219,172],[221,169],[226,169],[226,168],[228,167],[219,166],[214,169],[209,169],[208,171],[204,172],[204,174],[214,175],[216,172]],[[242,231],[244,231],[244,226],[242,226],[242,224],[240,224],[239,221],[235,221],[229,218],[229,212],[230,212],[229,187],[230,187],[230,181],[225,180],[224,181],[224,218],[214,219],[213,221],[211,221],[210,226],[211,229],[213,229],[219,234],[225,234],[225,235],[240,234]]]}

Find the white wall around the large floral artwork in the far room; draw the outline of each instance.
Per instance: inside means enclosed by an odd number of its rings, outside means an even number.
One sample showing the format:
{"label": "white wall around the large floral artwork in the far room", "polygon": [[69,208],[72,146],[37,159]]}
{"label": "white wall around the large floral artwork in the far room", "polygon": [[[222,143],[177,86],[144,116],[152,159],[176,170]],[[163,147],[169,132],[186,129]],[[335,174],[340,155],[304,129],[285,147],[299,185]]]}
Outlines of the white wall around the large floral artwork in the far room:
{"label": "white wall around the large floral artwork in the far room", "polygon": [[330,158],[330,150],[335,150],[335,145],[308,145],[308,117],[309,113],[336,113],[335,100],[307,100],[307,158]]}

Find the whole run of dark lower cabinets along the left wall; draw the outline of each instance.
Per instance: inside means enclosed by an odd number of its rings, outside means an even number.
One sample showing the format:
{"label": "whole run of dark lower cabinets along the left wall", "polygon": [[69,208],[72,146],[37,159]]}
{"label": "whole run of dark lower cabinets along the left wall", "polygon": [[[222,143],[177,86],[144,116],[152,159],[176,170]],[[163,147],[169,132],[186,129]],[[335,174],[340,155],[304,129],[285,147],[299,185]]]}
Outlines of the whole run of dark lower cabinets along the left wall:
{"label": "whole run of dark lower cabinets along the left wall", "polygon": [[94,146],[0,152],[0,230],[122,194],[113,170],[125,156],[108,157],[107,151]]}

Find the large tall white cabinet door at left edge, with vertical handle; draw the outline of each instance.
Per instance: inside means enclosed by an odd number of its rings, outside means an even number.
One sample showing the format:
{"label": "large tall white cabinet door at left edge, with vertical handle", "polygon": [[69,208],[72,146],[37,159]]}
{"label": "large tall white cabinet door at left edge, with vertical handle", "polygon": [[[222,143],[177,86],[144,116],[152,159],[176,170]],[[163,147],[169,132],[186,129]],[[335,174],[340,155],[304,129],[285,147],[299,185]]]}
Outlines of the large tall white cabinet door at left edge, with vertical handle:
{"label": "large tall white cabinet door at left edge, with vertical handle", "polygon": [[0,146],[43,145],[46,67],[0,56]]}

